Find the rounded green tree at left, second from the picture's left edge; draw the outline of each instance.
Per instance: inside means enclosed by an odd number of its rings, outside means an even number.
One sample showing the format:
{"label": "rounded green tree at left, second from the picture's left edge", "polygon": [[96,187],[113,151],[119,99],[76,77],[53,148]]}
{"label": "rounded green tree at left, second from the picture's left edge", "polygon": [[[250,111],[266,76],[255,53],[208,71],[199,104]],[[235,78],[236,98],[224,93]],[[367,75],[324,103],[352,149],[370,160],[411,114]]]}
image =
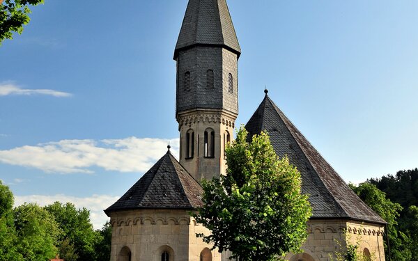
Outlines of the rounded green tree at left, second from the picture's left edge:
{"label": "rounded green tree at left, second from the picture's left edge", "polygon": [[20,205],[14,210],[17,249],[22,260],[38,261],[54,258],[56,239],[60,233],[54,217],[36,204]]}

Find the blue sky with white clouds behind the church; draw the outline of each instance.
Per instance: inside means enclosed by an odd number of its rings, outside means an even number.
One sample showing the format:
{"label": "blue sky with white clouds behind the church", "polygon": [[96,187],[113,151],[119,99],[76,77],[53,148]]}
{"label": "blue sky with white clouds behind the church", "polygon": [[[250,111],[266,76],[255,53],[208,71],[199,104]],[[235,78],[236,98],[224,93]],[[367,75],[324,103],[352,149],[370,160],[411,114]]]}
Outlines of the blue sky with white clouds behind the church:
{"label": "blue sky with white clouds behind the church", "polygon": [[[417,1],[229,0],[240,116],[269,95],[346,182],[418,167]],[[113,203],[178,150],[186,0],[51,1],[0,47],[0,179],[16,204]]]}

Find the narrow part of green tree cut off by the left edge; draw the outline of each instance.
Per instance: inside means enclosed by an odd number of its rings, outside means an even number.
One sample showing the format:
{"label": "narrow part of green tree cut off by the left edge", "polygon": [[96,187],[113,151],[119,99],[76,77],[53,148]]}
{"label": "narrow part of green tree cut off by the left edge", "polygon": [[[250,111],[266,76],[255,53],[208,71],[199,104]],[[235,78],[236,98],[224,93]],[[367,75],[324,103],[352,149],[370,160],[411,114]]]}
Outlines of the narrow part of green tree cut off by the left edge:
{"label": "narrow part of green tree cut off by the left edge", "polygon": [[13,222],[13,193],[0,180],[0,261],[19,261],[17,237]]}

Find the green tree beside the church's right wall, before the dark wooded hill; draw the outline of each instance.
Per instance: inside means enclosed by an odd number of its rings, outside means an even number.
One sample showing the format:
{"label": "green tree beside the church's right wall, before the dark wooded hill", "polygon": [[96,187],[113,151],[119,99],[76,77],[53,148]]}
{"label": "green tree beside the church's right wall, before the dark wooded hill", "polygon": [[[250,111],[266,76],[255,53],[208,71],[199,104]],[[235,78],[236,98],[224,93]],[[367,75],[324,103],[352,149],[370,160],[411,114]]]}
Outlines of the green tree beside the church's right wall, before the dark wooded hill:
{"label": "green tree beside the church's right wall, before the dark wooded hill", "polygon": [[[366,205],[371,207],[382,219],[387,222],[387,236],[389,237],[390,255],[392,260],[407,261],[411,260],[411,251],[408,248],[410,239],[405,233],[398,231],[399,212],[402,211],[401,205],[392,203],[386,194],[380,191],[374,184],[364,182],[355,186],[350,184],[357,196],[361,198]],[[385,242],[385,254],[389,255],[387,244]]]}

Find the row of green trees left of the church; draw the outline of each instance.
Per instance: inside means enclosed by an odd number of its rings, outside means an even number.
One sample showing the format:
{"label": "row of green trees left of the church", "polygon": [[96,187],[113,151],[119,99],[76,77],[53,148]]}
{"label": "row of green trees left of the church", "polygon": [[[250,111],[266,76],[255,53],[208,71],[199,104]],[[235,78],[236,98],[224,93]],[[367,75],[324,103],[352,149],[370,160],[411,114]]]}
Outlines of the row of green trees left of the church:
{"label": "row of green trees left of the church", "polygon": [[0,180],[0,261],[110,259],[111,226],[93,230],[90,212],[72,203],[13,208],[13,193]]}

